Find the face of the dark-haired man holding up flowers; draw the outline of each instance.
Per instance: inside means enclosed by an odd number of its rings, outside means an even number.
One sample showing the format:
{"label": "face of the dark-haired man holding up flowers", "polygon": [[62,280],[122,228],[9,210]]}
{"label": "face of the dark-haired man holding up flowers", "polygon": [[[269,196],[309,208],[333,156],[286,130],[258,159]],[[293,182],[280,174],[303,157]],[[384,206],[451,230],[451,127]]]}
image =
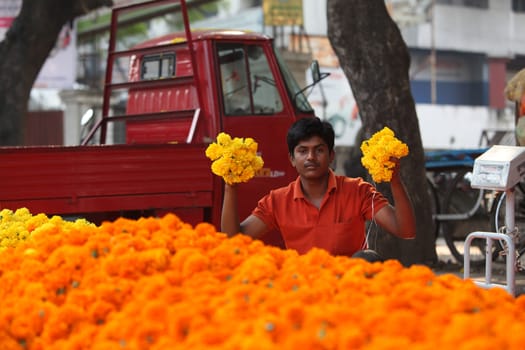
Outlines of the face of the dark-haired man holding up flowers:
{"label": "face of the dark-haired man holding up flowers", "polygon": [[292,165],[304,178],[318,178],[326,175],[334,158],[334,152],[319,136],[300,141],[290,157]]}

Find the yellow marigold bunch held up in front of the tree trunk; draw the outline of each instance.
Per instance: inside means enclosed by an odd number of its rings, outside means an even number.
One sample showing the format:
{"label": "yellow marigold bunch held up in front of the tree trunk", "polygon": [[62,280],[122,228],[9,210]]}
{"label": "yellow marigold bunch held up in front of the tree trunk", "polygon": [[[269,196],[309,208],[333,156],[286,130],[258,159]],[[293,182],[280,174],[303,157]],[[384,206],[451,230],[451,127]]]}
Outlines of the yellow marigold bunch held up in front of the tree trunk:
{"label": "yellow marigold bunch held up in front of the tree trunk", "polygon": [[392,179],[395,163],[391,158],[401,158],[408,155],[408,146],[397,139],[394,132],[384,127],[361,144],[363,157],[361,163],[368,170],[372,179],[388,182]]}

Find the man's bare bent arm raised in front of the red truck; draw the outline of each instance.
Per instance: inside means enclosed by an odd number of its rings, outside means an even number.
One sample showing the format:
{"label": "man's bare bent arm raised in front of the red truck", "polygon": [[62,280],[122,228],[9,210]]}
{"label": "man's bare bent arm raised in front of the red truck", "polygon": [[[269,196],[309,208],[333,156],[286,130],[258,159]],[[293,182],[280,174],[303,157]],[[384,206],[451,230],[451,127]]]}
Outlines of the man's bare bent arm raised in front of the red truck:
{"label": "man's bare bent arm raised in front of the red truck", "polygon": [[221,231],[228,236],[243,233],[252,238],[259,238],[268,231],[268,227],[264,221],[254,215],[248,216],[242,223],[240,223],[236,185],[224,185]]}

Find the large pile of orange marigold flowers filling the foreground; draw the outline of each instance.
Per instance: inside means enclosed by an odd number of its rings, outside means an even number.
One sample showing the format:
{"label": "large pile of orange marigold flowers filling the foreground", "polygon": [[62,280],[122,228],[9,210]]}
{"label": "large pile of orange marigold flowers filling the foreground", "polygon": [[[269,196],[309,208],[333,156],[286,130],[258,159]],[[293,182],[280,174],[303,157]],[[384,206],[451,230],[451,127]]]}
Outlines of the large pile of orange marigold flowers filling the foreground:
{"label": "large pile of orange marigold flowers filling the foreground", "polygon": [[26,229],[0,252],[2,350],[525,344],[524,297],[424,266],[298,255],[172,214]]}

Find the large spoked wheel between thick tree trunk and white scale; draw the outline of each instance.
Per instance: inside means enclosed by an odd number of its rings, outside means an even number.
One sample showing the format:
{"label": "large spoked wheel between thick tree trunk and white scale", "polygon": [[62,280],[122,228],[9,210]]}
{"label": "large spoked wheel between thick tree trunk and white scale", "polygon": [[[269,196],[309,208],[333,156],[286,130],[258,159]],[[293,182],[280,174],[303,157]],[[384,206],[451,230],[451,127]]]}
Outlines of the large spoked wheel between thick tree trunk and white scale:
{"label": "large spoked wheel between thick tree trunk and white scale", "polygon": [[[486,209],[487,198],[484,197],[482,190],[470,186],[471,177],[472,172],[469,169],[458,170],[443,199],[443,213],[458,216],[443,220],[441,233],[450,253],[460,264],[464,262],[464,244],[467,235],[474,231],[490,229],[489,213]],[[485,239],[476,238],[471,242],[469,250],[471,266],[485,263],[485,246]]]}

